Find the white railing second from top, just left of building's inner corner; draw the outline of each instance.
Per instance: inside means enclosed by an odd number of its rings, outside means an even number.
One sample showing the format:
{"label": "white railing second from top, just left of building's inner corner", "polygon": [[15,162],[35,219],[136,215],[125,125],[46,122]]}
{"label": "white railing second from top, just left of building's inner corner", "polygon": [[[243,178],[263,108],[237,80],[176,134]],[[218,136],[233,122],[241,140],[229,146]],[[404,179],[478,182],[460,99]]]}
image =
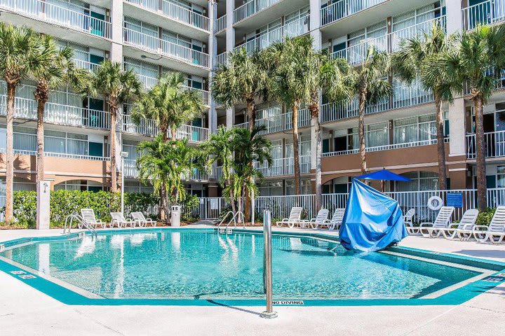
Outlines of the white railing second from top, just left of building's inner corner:
{"label": "white railing second from top, just left of building's inner corner", "polygon": [[191,48],[163,40],[156,36],[141,33],[129,28],[123,28],[123,42],[135,48],[161,54],[182,62],[197,66],[209,67],[209,55]]}

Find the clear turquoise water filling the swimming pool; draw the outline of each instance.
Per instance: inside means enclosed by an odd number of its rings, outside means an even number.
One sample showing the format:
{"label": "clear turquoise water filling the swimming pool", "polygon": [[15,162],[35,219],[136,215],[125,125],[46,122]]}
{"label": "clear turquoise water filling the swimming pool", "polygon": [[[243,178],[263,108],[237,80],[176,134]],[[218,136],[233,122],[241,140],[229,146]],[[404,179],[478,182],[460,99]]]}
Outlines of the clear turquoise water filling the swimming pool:
{"label": "clear turquoise water filling the swimming pool", "polygon": [[[40,241],[0,253],[109,298],[255,299],[262,235],[210,230],[124,232]],[[417,298],[480,273],[385,253],[352,253],[313,237],[273,237],[274,297]]]}

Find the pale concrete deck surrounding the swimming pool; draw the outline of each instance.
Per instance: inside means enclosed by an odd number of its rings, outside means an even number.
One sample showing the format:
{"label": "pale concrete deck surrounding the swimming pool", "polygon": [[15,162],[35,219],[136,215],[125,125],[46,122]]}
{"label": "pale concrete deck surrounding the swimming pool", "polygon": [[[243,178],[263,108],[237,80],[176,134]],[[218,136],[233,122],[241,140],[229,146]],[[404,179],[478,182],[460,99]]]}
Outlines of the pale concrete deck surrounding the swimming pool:
{"label": "pale concrete deck surrounding the swimming pool", "polygon": [[[0,242],[60,233],[0,230]],[[505,244],[408,237],[400,245],[505,262]],[[1,335],[448,336],[505,330],[505,284],[457,306],[275,307],[279,317],[264,320],[261,307],[69,306],[4,272],[0,283]]]}

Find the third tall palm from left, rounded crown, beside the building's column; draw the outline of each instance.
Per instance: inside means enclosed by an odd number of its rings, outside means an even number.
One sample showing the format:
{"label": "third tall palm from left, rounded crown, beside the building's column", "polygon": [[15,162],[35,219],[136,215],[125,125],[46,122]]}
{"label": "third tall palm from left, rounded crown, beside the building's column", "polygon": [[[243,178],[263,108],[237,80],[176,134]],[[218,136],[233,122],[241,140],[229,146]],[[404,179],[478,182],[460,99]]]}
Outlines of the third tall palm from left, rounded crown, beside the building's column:
{"label": "third tall palm from left, rounded crown, beside the building's column", "polygon": [[116,121],[119,106],[130,99],[135,99],[140,95],[142,83],[135,76],[132,69],[123,71],[121,63],[111,62],[106,59],[101,66],[92,73],[86,93],[96,97],[98,94],[105,96],[105,102],[109,106],[111,116],[110,130],[110,157],[111,157],[111,175],[112,192],[117,190],[117,172],[116,172]]}

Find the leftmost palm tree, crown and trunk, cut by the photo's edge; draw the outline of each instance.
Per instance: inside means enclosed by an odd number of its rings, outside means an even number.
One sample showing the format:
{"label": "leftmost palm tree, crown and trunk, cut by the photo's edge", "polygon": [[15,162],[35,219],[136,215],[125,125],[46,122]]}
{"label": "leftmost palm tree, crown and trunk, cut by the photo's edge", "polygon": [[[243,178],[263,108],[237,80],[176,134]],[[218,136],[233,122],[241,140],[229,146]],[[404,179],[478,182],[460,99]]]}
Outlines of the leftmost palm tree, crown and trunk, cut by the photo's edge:
{"label": "leftmost palm tree, crown and trunk, cut by the photo's edge", "polygon": [[13,219],[15,91],[21,80],[27,78],[32,70],[36,41],[37,36],[32,29],[0,22],[0,73],[7,84],[6,223],[10,223]]}

